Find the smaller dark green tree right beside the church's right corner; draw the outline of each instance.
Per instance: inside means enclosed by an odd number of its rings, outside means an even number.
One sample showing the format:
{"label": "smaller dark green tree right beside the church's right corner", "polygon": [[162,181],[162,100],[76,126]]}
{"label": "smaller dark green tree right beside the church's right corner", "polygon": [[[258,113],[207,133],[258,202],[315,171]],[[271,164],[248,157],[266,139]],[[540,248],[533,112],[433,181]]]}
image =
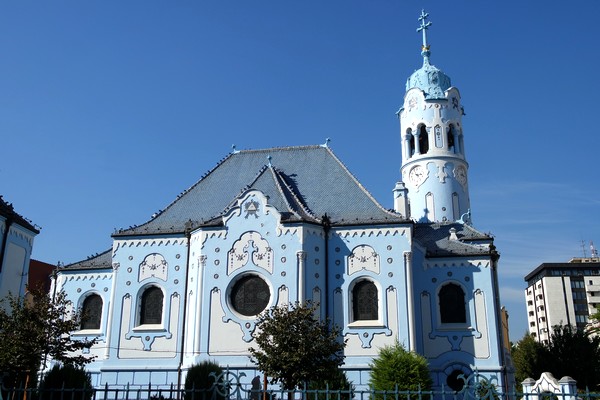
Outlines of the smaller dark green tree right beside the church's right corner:
{"label": "smaller dark green tree right beside the church's right corner", "polygon": [[517,383],[527,378],[538,379],[552,363],[550,351],[533,336],[526,333],[512,349]]}

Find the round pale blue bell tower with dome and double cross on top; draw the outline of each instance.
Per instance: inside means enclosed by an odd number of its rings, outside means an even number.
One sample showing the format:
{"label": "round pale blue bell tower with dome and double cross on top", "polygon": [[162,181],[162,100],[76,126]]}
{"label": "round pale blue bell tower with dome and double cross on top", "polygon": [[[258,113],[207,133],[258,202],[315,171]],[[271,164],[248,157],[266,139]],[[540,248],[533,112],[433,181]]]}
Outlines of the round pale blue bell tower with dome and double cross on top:
{"label": "round pale blue bell tower with dome and double cross on top", "polygon": [[423,66],[408,78],[398,111],[402,181],[394,189],[394,207],[416,222],[470,224],[464,111],[450,77],[429,61],[428,16],[421,11],[417,29],[423,35]]}

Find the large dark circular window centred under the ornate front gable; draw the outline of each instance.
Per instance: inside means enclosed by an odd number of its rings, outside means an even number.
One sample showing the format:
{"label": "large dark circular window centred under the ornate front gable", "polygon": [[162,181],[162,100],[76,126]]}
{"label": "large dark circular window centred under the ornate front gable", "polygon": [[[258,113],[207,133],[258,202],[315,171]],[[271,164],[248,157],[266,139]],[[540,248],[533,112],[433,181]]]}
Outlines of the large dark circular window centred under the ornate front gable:
{"label": "large dark circular window centred under the ornate front gable", "polygon": [[260,314],[269,305],[269,300],[269,285],[256,275],[238,279],[231,289],[231,306],[247,317]]}

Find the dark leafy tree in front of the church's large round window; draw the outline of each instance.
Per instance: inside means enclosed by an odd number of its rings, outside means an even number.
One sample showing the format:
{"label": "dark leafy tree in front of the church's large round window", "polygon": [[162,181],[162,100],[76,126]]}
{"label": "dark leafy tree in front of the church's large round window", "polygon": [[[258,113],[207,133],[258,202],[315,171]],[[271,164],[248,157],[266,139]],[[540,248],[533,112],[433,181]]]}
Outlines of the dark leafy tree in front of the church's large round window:
{"label": "dark leafy tree in front of the church's large round window", "polygon": [[272,307],[259,315],[251,359],[271,383],[295,389],[337,374],[344,361],[341,329],[315,317],[311,302]]}

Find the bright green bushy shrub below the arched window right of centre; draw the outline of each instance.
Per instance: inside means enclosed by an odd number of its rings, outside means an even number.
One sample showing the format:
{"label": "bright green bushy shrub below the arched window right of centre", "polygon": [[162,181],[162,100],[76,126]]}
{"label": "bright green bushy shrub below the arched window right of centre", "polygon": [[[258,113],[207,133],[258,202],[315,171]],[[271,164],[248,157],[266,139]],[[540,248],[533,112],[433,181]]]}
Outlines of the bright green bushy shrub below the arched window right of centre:
{"label": "bright green bushy shrub below the arched window right of centre", "polygon": [[[393,391],[397,388],[400,391],[416,392],[430,390],[433,384],[425,357],[406,350],[398,341],[379,349],[370,366],[369,383],[376,391]],[[375,395],[376,399],[385,397],[379,393]]]}

